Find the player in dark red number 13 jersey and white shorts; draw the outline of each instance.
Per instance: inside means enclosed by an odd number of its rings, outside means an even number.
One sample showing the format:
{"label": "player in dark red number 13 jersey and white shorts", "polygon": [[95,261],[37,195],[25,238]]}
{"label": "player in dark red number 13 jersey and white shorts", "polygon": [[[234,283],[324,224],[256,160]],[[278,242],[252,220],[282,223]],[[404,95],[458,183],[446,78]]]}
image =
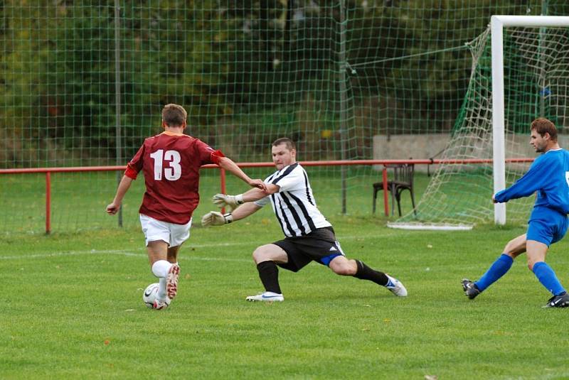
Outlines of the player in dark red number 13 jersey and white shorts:
{"label": "player in dark red number 13 jersey and white shorts", "polygon": [[216,163],[248,185],[267,190],[262,180],[252,180],[238,165],[208,144],[184,134],[186,110],[178,104],[162,109],[164,132],[149,137],[128,163],[107,213],[115,215],[132,181],[142,170],[146,192],[140,206],[140,223],[146,239],[152,273],[159,278],[155,309],[166,308],[178,290],[178,251],[190,237],[191,216],[199,202],[201,165]]}

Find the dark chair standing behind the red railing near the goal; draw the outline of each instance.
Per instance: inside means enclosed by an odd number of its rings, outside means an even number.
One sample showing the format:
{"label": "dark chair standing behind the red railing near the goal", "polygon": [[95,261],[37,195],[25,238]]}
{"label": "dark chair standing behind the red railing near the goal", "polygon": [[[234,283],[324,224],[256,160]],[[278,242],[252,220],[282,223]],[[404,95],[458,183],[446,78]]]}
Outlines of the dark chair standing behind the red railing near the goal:
{"label": "dark chair standing behind the red railing near the goal", "polygon": [[[387,190],[391,192],[391,215],[395,212],[395,201],[397,202],[397,210],[401,216],[401,193],[403,190],[409,190],[411,194],[411,203],[413,204],[413,212],[415,211],[415,195],[413,195],[413,174],[415,173],[414,163],[403,163],[396,165],[385,165],[388,171]],[[390,173],[391,172],[391,173]],[[376,201],[378,191],[383,190],[383,182],[373,184],[373,213],[376,213]]]}

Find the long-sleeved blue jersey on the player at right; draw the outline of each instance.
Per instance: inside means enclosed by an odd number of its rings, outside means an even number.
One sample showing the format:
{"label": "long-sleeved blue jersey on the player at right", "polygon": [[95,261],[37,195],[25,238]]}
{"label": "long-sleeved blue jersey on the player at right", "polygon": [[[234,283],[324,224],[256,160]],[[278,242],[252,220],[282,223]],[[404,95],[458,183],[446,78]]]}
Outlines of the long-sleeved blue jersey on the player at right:
{"label": "long-sleeved blue jersey on the player at right", "polygon": [[496,192],[497,202],[508,202],[537,192],[536,207],[569,214],[569,152],[547,151],[533,161],[528,172],[506,190]]}

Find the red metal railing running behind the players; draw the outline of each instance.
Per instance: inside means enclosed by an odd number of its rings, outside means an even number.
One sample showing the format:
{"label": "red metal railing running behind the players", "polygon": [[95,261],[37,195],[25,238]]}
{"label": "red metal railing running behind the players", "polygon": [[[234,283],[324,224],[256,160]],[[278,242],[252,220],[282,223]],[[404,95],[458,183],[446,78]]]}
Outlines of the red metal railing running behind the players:
{"label": "red metal railing running behind the players", "polygon": [[[533,158],[509,158],[508,163],[527,163]],[[388,191],[387,191],[387,165],[413,163],[415,165],[437,164],[465,164],[465,163],[491,163],[491,159],[465,159],[465,160],[352,160],[352,161],[300,161],[303,166],[343,166],[343,165],[383,165],[383,205],[385,216],[389,215]],[[238,163],[240,168],[267,168],[274,163]],[[218,165],[203,165],[205,169],[216,169]],[[46,234],[51,231],[51,173],[78,173],[95,171],[124,171],[126,166],[83,166],[74,168],[26,168],[26,169],[0,169],[1,174],[26,174],[46,173]],[[220,189],[225,193],[225,170],[220,169]]]}

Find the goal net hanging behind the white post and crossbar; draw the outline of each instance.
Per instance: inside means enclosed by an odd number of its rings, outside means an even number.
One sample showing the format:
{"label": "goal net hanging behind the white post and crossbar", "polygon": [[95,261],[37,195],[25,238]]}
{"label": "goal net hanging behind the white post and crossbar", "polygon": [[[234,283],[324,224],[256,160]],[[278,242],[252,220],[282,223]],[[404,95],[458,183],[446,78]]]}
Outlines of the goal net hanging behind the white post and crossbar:
{"label": "goal net hanging behind the white post and crossbar", "polygon": [[[503,41],[504,168],[509,186],[531,164],[520,159],[536,157],[528,137],[533,119],[551,119],[560,131],[560,145],[567,146],[563,133],[569,106],[569,31],[562,27],[504,28]],[[452,138],[440,156],[454,163],[438,166],[417,215],[411,212],[391,227],[468,228],[494,219],[490,27],[469,48],[472,77]],[[508,222],[525,223],[532,204],[533,197],[508,202]]]}

